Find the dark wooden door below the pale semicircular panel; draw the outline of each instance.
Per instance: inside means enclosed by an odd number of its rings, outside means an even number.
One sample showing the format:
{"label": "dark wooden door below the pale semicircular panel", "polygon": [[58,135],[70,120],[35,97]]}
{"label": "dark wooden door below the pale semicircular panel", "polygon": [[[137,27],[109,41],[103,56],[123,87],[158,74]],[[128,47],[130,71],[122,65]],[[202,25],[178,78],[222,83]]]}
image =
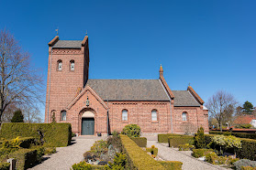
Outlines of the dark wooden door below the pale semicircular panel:
{"label": "dark wooden door below the pale semicircular panel", "polygon": [[82,135],[94,135],[94,134],[95,134],[95,119],[82,118]]}

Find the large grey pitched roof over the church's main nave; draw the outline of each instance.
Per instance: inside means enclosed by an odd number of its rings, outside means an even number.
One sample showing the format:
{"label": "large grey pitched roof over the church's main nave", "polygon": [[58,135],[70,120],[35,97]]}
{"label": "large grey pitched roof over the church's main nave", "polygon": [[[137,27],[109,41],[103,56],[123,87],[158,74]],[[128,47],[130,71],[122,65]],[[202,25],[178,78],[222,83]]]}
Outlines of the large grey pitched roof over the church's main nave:
{"label": "large grey pitched roof over the church's main nave", "polygon": [[169,101],[160,80],[88,80],[104,101]]}

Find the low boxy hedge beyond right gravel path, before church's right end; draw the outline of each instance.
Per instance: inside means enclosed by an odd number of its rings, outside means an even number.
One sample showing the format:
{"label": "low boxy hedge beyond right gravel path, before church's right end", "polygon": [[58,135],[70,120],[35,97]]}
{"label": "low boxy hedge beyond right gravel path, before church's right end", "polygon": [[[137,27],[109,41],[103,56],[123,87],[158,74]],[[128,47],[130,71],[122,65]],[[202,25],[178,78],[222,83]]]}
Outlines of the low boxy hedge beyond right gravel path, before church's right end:
{"label": "low boxy hedge beyond right gravel path, before church's right end", "polygon": [[171,136],[168,137],[169,147],[179,147],[180,144],[193,144],[194,143],[194,136]]}

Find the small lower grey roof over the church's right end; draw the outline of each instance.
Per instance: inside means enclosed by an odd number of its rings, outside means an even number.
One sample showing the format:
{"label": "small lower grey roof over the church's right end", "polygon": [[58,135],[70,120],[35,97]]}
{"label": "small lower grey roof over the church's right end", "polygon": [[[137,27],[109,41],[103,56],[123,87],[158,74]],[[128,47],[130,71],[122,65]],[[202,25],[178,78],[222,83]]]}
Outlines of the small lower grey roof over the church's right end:
{"label": "small lower grey roof over the church's right end", "polygon": [[173,90],[174,106],[200,106],[188,90]]}

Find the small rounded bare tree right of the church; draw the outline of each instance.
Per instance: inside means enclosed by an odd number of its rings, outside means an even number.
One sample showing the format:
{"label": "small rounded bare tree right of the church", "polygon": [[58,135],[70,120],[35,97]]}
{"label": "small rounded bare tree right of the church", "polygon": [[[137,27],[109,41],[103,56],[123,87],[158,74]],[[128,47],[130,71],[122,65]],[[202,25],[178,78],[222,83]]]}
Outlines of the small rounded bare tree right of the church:
{"label": "small rounded bare tree right of the church", "polygon": [[[222,132],[222,123],[230,116],[228,110],[235,108],[237,101],[234,96],[224,90],[218,90],[206,103],[212,117],[217,119],[220,131]],[[232,116],[232,115],[231,115]]]}

